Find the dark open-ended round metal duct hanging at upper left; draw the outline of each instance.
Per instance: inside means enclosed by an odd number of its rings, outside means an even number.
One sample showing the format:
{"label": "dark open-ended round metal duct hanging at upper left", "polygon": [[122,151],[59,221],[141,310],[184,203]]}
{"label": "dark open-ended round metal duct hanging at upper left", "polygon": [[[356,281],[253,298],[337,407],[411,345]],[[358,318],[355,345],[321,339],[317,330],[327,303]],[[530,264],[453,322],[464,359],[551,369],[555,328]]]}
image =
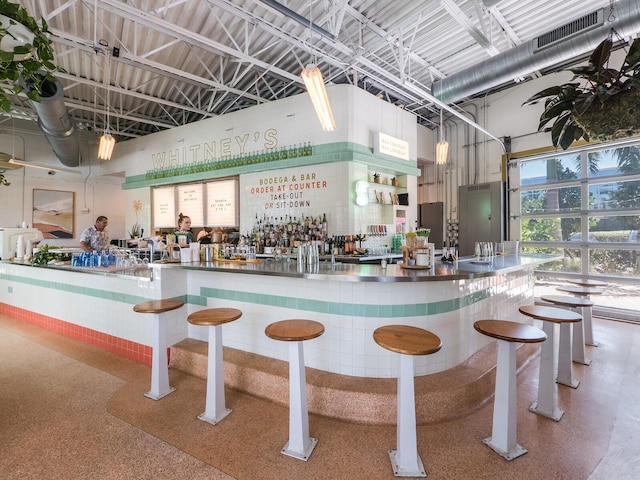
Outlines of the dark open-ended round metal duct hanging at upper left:
{"label": "dark open-ended round metal duct hanging at upper left", "polygon": [[[26,89],[33,89],[26,84]],[[64,104],[63,88],[60,81],[44,79],[41,84],[40,102],[31,102],[38,114],[38,125],[53,148],[56,157],[67,167],[80,165],[80,144],[76,125]]]}

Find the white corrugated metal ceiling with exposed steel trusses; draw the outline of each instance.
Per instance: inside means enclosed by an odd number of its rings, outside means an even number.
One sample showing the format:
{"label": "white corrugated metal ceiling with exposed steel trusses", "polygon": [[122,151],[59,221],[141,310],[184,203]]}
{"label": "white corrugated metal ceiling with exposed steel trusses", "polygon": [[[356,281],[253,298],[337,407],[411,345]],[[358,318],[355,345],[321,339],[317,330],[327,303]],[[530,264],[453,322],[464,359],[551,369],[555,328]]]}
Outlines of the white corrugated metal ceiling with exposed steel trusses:
{"label": "white corrugated metal ceiling with exposed steel trusses", "polygon": [[[439,109],[420,92],[434,81],[591,11],[610,14],[611,2],[281,0],[300,21],[263,0],[19,3],[49,24],[79,128],[102,131],[108,97],[111,130],[126,140],[301,93],[308,63],[432,127]],[[35,119],[24,97],[13,104],[12,115]]]}

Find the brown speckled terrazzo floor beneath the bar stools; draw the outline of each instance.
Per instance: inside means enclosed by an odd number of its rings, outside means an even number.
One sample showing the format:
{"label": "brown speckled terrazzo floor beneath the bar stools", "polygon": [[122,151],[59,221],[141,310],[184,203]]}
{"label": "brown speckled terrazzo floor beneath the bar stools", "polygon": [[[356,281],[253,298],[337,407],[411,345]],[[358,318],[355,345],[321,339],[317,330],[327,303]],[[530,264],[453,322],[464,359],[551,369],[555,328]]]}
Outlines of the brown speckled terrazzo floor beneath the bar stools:
{"label": "brown speckled terrazzo floor beneath the bar stools", "polygon": [[[560,422],[528,411],[537,358],[518,374],[518,442],[507,462],[482,443],[493,402],[418,427],[431,479],[640,478],[640,325],[595,319],[591,366],[578,389],[558,387]],[[171,369],[176,392],[143,396],[150,368],[0,315],[0,476],[3,479],[391,479],[396,429],[310,415],[319,439],[308,462],[280,454],[288,409],[228,389],[233,413],[196,419],[203,379]]]}

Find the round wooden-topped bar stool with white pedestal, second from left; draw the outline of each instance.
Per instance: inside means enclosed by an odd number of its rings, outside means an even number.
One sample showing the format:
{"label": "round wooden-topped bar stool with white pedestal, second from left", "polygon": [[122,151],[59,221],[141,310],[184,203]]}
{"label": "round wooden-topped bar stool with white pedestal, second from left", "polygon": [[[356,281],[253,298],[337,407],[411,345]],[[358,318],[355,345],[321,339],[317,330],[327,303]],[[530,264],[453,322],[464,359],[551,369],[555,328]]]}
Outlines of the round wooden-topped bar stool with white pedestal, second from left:
{"label": "round wooden-topped bar stool with white pedestal, second from left", "polygon": [[209,327],[207,352],[207,399],[204,413],[198,419],[212,425],[222,421],[231,410],[224,402],[224,372],[222,361],[222,325],[242,316],[235,308],[208,308],[192,313],[187,321],[192,325]]}

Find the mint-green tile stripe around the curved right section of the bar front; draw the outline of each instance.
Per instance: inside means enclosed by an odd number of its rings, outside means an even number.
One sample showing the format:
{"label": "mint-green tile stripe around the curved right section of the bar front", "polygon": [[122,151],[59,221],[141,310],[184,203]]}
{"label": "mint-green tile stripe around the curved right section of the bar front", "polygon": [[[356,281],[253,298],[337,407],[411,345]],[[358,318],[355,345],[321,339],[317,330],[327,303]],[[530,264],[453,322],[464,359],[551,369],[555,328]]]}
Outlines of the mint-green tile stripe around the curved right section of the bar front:
{"label": "mint-green tile stripe around the curved right section of the bar front", "polygon": [[468,307],[476,302],[489,298],[489,290],[475,292],[461,298],[442,300],[430,303],[413,303],[405,305],[367,305],[364,303],[342,303],[326,300],[268,295],[264,293],[240,292],[222,288],[200,287],[202,297],[217,298],[236,302],[269,305],[274,307],[293,308],[308,312],[346,315],[353,317],[415,317],[448,313]]}

